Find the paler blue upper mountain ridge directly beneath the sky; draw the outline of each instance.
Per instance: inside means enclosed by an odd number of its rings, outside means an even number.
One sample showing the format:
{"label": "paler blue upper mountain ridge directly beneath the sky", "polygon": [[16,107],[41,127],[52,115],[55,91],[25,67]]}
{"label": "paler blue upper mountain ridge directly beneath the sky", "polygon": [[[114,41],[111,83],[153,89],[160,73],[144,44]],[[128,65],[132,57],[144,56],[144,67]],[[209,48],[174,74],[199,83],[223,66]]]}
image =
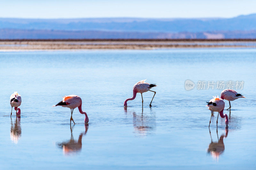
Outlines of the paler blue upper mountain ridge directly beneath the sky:
{"label": "paler blue upper mountain ridge directly beneath the sky", "polygon": [[256,30],[256,14],[235,18],[0,18],[0,29],[123,32],[208,32]]}

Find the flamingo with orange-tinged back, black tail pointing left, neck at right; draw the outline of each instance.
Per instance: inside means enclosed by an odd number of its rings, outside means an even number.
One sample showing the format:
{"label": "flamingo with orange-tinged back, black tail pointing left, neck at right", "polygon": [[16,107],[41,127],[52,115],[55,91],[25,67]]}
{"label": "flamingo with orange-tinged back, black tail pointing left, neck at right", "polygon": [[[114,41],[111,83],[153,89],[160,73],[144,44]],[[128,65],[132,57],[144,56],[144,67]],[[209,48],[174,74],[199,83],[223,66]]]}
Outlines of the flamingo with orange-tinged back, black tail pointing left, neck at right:
{"label": "flamingo with orange-tinged back, black tail pointing left, neck at right", "polygon": [[61,102],[59,102],[56,105],[53,105],[52,107],[54,107],[54,106],[68,107],[71,110],[70,124],[71,124],[71,120],[75,124],[75,122],[72,118],[72,114],[73,114],[73,110],[76,107],[78,107],[78,110],[81,114],[85,115],[84,123],[87,124],[89,122],[89,118],[88,118],[87,114],[82,110],[82,99],[77,95],[65,96],[65,97],[63,97],[63,100]]}

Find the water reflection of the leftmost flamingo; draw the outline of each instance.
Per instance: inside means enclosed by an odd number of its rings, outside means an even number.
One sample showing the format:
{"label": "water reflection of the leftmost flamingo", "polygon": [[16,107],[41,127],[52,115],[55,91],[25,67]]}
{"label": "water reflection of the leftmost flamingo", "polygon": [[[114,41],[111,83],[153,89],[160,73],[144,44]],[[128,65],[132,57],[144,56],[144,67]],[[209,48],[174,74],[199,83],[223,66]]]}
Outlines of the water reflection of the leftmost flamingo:
{"label": "water reflection of the leftmost flamingo", "polygon": [[14,122],[14,124],[12,123],[12,117],[11,117],[10,138],[13,143],[18,144],[18,141],[21,138],[20,117],[16,117],[16,121]]}

